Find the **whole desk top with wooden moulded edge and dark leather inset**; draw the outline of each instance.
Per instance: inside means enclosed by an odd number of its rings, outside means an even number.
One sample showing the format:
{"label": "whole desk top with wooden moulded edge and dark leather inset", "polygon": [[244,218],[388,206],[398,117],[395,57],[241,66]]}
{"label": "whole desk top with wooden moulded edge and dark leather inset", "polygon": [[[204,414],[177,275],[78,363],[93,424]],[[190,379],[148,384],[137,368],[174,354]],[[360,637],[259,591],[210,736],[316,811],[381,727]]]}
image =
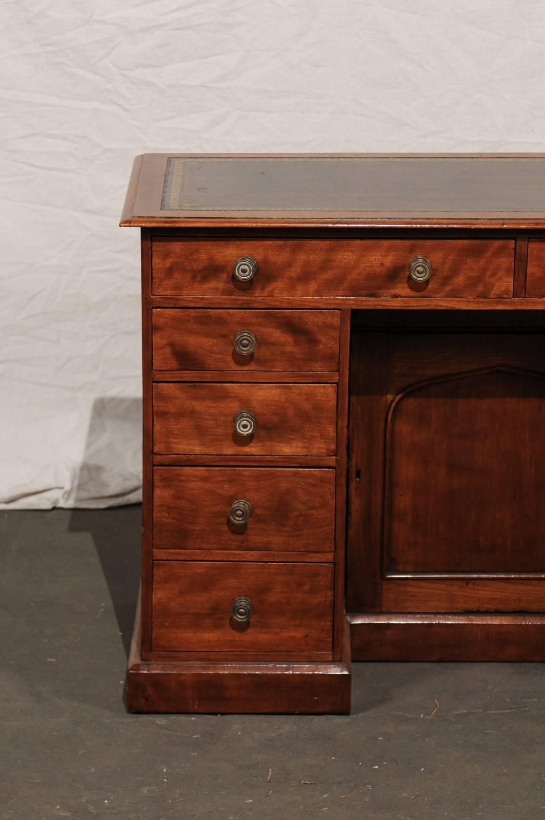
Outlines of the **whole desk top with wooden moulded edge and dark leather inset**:
{"label": "whole desk top with wooden moulded edge and dark leather inset", "polygon": [[545,228],[545,154],[144,154],[121,225]]}

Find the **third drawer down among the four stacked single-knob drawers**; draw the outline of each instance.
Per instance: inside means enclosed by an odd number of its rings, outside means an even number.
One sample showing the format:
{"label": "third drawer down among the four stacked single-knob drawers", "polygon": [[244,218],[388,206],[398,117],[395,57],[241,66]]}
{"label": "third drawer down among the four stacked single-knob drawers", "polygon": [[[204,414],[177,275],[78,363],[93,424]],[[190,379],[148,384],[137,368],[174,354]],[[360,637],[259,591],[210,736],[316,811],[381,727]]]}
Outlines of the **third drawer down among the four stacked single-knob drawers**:
{"label": "third drawer down among the four stacked single-knob drawers", "polygon": [[334,522],[334,470],[153,470],[155,549],[332,552]]}

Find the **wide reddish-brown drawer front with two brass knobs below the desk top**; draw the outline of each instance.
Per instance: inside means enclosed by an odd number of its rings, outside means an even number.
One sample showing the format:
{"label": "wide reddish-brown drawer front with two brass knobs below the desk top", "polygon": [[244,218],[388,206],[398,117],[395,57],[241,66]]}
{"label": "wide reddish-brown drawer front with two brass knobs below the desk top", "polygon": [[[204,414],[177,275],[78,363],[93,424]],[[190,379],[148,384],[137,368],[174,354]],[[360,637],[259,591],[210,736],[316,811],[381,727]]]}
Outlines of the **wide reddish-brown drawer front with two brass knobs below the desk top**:
{"label": "wide reddish-brown drawer front with two brass knobs below the desk top", "polygon": [[[253,257],[258,270],[239,281],[233,266]],[[427,281],[409,276],[426,257]],[[394,296],[508,298],[511,239],[152,239],[153,293],[164,296]]]}

